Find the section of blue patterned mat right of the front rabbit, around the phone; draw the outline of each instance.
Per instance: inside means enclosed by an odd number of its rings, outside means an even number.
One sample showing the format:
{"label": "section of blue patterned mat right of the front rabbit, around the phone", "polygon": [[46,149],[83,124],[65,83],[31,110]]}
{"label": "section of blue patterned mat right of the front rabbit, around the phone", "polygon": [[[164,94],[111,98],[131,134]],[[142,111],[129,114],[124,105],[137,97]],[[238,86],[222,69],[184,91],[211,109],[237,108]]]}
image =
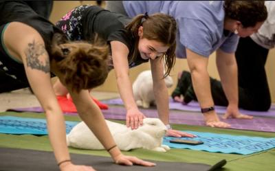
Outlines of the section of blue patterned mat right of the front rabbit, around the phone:
{"label": "section of blue patterned mat right of the front rabbit, around the phone", "polygon": [[195,131],[182,130],[197,135],[195,138],[183,137],[181,139],[192,139],[203,141],[203,144],[191,146],[186,144],[170,143],[173,137],[164,137],[163,144],[170,148],[187,148],[208,152],[234,153],[239,155],[250,155],[254,152],[261,152],[275,148],[275,138],[236,136],[216,133],[199,133]]}

